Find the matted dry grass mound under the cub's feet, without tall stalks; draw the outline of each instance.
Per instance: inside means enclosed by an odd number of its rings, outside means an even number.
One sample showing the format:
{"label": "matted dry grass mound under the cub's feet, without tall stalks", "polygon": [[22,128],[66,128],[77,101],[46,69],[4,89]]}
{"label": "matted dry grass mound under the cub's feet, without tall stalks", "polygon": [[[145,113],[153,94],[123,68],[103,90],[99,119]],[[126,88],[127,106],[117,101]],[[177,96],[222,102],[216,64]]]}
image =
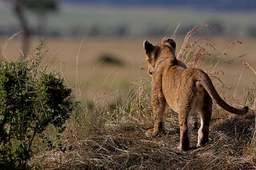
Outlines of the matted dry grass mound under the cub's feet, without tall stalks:
{"label": "matted dry grass mound under the cub's feet, without tall stalks", "polygon": [[169,109],[166,135],[144,136],[152,120],[144,86],[148,83],[134,86],[137,91],[116,106],[77,113],[63,134],[68,151],[38,152],[31,164],[41,169],[255,169],[254,115],[236,117],[216,108],[208,145],[197,149],[193,131],[193,148],[181,152],[178,118]]}

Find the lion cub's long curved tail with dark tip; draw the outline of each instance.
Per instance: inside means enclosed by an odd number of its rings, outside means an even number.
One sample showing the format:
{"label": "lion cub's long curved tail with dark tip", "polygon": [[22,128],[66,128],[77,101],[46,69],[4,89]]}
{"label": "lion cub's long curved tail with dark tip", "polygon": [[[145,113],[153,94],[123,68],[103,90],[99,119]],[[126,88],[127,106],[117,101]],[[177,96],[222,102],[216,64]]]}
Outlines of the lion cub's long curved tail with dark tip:
{"label": "lion cub's long curved tail with dark tip", "polygon": [[223,101],[223,99],[220,97],[220,95],[218,95],[218,92],[213,86],[213,82],[210,80],[210,77],[208,77],[208,75],[205,72],[200,72],[200,74],[198,75],[198,81],[201,82],[201,84],[203,85],[204,89],[206,89],[210,97],[213,98],[216,101],[216,103],[218,103],[218,105],[221,108],[224,108],[226,111],[238,115],[245,114],[249,111],[249,108],[247,106],[238,109],[234,108],[233,106],[230,106],[228,103]]}

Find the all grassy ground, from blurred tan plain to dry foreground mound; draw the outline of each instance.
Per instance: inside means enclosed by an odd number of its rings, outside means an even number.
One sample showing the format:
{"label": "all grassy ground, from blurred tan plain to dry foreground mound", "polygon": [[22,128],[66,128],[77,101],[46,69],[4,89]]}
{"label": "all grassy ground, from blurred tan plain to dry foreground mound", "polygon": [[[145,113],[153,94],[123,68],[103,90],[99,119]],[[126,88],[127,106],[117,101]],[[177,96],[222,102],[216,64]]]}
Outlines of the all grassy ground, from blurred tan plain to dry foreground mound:
{"label": "all grassy ground, from blurred tan plain to dry foreground mound", "polygon": [[[18,60],[20,39],[1,39],[4,60]],[[176,38],[176,54],[188,67],[210,75],[232,106],[255,109],[253,38]],[[166,135],[150,138],[153,125],[150,77],[143,41],[161,38],[44,38],[42,65],[54,69],[79,101],[62,134],[65,152],[38,138],[29,164],[34,169],[256,169],[255,114],[235,116],[213,106],[208,145],[181,152],[178,115],[167,108]],[[32,40],[31,49],[41,38]],[[182,47],[183,46],[183,47]],[[31,52],[33,53],[33,51]],[[53,133],[48,130],[48,135]]]}

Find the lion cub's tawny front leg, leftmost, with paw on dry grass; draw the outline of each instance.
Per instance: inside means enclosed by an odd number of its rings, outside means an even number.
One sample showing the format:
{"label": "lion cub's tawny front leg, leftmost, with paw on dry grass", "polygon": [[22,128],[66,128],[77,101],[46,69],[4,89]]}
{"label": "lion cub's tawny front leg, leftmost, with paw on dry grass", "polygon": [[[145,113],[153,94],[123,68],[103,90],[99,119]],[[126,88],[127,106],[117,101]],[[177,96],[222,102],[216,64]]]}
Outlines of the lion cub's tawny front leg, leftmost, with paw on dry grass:
{"label": "lion cub's tawny front leg, leftmost, with paw on dry grass", "polygon": [[151,106],[154,113],[154,128],[146,130],[145,135],[152,137],[164,132],[164,110],[166,107],[166,99],[159,88],[152,88],[151,90]]}

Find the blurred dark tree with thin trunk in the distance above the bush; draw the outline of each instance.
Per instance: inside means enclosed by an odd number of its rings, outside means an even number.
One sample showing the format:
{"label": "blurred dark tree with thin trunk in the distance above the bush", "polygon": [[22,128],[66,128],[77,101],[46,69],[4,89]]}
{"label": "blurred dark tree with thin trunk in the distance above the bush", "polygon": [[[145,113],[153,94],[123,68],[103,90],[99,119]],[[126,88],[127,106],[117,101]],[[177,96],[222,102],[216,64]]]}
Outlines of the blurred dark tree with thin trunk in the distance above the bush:
{"label": "blurred dark tree with thin trunk in the distance above the bush", "polygon": [[39,33],[42,33],[46,23],[46,13],[48,11],[56,10],[57,2],[55,0],[11,0],[9,2],[13,4],[14,13],[18,18],[21,29],[23,31],[23,54],[21,55],[21,60],[23,60],[28,55],[31,35],[31,30],[28,26],[28,20],[24,14],[24,11],[29,9],[38,14],[38,31]]}

